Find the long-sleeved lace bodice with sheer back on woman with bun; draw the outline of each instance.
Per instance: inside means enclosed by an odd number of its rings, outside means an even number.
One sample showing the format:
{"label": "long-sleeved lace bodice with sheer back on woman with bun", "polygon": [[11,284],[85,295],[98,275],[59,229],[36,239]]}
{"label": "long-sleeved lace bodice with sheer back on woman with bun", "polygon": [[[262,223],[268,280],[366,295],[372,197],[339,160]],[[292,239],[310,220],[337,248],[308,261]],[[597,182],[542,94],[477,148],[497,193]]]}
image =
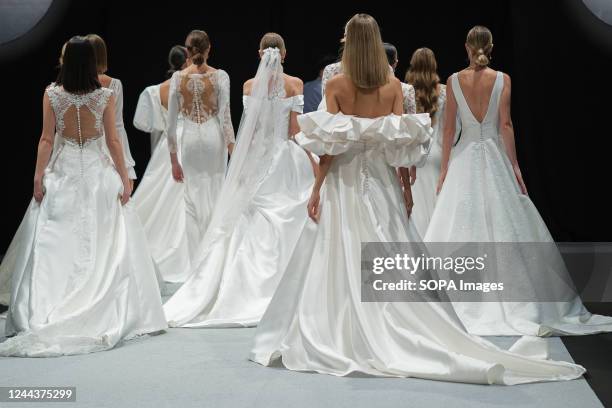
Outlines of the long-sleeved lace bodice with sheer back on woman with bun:
{"label": "long-sleeved lace bodice with sheer back on woman with bun", "polygon": [[170,81],[168,98],[170,151],[176,152],[177,149],[176,123],[179,114],[199,125],[218,118],[225,143],[233,143],[235,137],[229,93],[229,76],[221,69],[203,74],[175,72]]}

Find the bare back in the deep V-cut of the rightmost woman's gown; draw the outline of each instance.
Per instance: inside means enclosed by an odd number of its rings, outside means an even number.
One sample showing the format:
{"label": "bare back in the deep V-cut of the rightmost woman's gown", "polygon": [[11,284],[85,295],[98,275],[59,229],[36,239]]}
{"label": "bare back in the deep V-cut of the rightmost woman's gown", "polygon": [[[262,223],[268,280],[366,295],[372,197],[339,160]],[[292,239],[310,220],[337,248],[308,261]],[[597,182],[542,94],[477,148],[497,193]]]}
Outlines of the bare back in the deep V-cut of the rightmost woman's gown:
{"label": "bare back in the deep V-cut of the rightmost woman's gown", "polygon": [[481,70],[468,68],[459,72],[457,79],[468,108],[474,118],[482,123],[489,109],[489,101],[497,79],[497,71],[491,68]]}

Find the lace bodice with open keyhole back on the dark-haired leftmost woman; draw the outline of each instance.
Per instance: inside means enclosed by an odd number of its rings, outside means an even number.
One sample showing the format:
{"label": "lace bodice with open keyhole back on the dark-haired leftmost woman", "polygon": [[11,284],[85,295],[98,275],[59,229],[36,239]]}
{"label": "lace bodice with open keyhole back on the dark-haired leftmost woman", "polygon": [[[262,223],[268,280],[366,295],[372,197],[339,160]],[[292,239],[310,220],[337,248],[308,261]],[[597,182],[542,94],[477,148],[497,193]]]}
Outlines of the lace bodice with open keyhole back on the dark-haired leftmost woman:
{"label": "lace bodice with open keyhole back on the dark-haired leftmost woman", "polygon": [[87,140],[104,134],[102,118],[113,91],[98,88],[95,91],[76,95],[63,87],[50,85],[47,95],[55,114],[57,134],[82,145]]}

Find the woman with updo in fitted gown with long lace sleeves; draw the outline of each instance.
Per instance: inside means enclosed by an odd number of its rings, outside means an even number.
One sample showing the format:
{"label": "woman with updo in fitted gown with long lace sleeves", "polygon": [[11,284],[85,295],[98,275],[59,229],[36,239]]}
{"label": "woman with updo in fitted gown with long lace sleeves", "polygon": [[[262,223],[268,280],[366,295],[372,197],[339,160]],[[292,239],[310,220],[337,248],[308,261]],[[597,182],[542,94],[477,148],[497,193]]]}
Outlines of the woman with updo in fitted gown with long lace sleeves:
{"label": "woman with updo in fitted gown with long lace sleeves", "polygon": [[[175,72],[168,96],[168,148],[172,177],[185,183],[186,232],[193,265],[198,245],[208,228],[219,197],[227,155],[234,147],[227,73],[208,65],[208,34],[193,30],[185,40],[192,64]],[[182,117],[181,158],[178,121]],[[178,254],[176,254],[178,256]]]}

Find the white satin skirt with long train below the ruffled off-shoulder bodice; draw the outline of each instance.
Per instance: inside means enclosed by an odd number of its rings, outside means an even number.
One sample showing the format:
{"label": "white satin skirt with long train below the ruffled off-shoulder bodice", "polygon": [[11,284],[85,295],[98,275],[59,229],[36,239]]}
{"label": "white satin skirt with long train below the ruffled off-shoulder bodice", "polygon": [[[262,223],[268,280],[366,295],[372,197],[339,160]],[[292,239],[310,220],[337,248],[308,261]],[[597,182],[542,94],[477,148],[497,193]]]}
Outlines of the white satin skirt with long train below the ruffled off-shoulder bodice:
{"label": "white satin skirt with long train below the ruffled off-shoulder bodice", "polygon": [[[395,170],[380,152],[334,157],[319,224],[308,222],[258,325],[250,359],[338,376],[479,384],[578,378],[584,369],[500,350],[469,335],[448,303],[361,301],[361,243],[415,241]],[[538,341],[545,341],[537,339]],[[541,344],[529,344],[533,352]]]}

